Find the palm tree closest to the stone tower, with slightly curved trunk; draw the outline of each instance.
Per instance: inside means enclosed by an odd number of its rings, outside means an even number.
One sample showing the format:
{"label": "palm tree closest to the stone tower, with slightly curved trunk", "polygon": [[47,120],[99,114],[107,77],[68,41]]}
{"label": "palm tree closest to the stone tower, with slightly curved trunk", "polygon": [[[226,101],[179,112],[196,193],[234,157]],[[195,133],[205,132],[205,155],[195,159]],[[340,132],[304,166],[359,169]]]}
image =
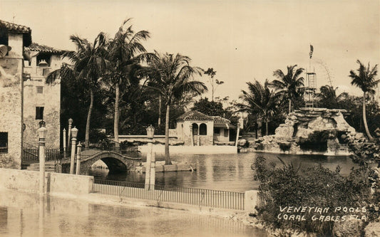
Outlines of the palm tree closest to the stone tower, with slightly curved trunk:
{"label": "palm tree closest to the stone tower, with slightly curved trunk", "polygon": [[63,64],[63,67],[48,75],[46,83],[52,83],[58,75],[62,77],[74,75],[76,80],[85,81],[90,94],[85,135],[86,146],[88,146],[91,112],[93,111],[93,90],[96,90],[102,73],[108,68],[108,62],[105,59],[106,36],[104,33],[99,33],[93,43],[73,35],[70,36],[70,40],[76,45],[76,51],[66,51],[63,53],[63,58],[68,58],[72,65]]}

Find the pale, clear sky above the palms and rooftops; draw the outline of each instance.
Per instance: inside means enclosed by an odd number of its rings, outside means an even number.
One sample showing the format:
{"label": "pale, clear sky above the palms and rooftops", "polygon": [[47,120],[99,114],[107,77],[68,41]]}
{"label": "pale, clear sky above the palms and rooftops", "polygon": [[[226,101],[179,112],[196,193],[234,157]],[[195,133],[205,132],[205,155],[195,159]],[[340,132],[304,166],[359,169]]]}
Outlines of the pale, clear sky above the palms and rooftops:
{"label": "pale, clear sky above the palms and rooftops", "polygon": [[[379,0],[0,0],[1,20],[29,26],[32,41],[65,50],[75,50],[73,34],[89,41],[101,31],[113,37],[133,18],[135,31],[150,32],[148,51],[181,53],[193,66],[213,68],[224,81],[215,96],[230,99],[247,82],[274,80],[274,70],[296,64],[317,73],[318,88],[331,80],[339,92],[361,95],[349,70],[359,68],[357,59],[380,63],[379,13]],[[197,79],[210,89],[206,75]]]}

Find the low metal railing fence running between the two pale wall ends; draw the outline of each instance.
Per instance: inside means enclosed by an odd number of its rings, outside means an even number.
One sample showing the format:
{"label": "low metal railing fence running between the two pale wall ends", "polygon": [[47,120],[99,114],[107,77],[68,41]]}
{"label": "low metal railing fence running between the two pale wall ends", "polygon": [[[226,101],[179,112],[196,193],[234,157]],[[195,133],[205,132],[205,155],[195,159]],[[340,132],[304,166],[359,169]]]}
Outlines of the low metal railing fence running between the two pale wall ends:
{"label": "low metal railing fence running between the two pale wall ends", "polygon": [[245,193],[176,186],[145,185],[126,181],[95,179],[93,190],[133,199],[174,202],[220,209],[244,210]]}

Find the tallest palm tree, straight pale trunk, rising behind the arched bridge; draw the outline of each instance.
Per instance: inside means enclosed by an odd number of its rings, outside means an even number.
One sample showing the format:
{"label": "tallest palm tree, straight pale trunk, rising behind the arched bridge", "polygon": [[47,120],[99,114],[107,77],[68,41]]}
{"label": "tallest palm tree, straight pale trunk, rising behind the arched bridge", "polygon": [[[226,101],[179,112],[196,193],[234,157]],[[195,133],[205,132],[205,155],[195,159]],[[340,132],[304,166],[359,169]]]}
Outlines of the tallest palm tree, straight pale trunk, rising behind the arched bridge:
{"label": "tallest palm tree, straight pale trunk, rising behind the arched bridge", "polygon": [[[125,28],[130,19],[126,19],[116,32],[115,37],[111,39],[108,45],[108,58],[111,63],[111,79],[115,87],[115,115],[113,122],[113,135],[115,142],[119,141],[119,102],[120,102],[120,85],[122,83],[130,84],[130,73],[133,73],[135,65],[141,60],[148,57],[144,46],[140,41],[149,38],[148,31],[134,32],[132,25]],[[139,54],[142,53],[142,54]]]}

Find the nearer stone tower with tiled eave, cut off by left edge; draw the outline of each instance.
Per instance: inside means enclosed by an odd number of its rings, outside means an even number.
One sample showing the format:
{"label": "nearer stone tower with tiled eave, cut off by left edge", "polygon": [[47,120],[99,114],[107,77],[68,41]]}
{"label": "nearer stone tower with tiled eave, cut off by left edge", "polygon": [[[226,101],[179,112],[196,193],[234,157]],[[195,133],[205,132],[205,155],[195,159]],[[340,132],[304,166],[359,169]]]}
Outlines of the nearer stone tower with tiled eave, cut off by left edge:
{"label": "nearer stone tower with tiled eave, cut off by left edge", "polygon": [[31,29],[0,20],[0,167],[21,169],[24,46]]}

